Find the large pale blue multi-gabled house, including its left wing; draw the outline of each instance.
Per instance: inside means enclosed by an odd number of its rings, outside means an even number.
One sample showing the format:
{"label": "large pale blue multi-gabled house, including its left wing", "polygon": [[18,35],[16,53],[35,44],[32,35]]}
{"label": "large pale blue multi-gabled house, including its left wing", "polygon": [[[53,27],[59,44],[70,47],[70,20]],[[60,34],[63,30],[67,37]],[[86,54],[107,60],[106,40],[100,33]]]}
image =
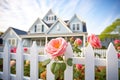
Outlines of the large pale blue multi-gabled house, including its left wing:
{"label": "large pale blue multi-gabled house, including its left wing", "polygon": [[9,43],[14,46],[17,45],[18,40],[22,40],[25,47],[30,47],[33,41],[36,41],[37,45],[42,48],[52,38],[64,37],[68,40],[70,37],[76,37],[81,38],[83,46],[85,46],[88,34],[86,23],[82,21],[78,15],[75,14],[70,20],[64,21],[58,18],[51,9],[43,19],[38,17],[27,33],[24,31],[20,33],[23,34],[17,34],[14,28],[9,28],[3,35],[3,39],[4,41],[9,41]]}

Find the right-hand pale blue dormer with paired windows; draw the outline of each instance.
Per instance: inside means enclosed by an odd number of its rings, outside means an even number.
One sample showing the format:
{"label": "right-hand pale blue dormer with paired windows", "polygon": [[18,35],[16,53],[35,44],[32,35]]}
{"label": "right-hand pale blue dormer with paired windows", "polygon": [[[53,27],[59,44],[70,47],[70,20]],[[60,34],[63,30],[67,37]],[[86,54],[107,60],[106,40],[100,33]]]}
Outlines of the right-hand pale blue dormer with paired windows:
{"label": "right-hand pale blue dormer with paired windows", "polygon": [[73,32],[87,32],[86,24],[76,14],[70,19],[68,25]]}

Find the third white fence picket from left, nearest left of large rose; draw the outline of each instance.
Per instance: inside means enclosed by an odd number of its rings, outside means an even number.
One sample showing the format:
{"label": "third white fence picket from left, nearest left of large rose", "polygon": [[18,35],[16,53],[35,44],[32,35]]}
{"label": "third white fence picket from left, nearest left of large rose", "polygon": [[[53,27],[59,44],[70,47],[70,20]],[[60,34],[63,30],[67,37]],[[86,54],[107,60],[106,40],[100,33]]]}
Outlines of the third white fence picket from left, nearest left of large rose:
{"label": "third white fence picket from left, nearest left of large rose", "polygon": [[30,48],[30,80],[38,80],[38,51],[35,41]]}

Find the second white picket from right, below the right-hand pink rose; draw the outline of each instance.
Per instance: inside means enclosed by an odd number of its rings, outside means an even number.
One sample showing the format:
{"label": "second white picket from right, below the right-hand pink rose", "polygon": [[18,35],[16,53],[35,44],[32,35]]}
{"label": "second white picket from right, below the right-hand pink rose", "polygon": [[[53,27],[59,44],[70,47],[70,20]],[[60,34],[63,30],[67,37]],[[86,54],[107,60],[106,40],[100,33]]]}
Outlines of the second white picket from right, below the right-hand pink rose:
{"label": "second white picket from right, below the right-hand pink rose", "polygon": [[94,80],[94,51],[92,46],[89,44],[85,50],[85,80]]}

